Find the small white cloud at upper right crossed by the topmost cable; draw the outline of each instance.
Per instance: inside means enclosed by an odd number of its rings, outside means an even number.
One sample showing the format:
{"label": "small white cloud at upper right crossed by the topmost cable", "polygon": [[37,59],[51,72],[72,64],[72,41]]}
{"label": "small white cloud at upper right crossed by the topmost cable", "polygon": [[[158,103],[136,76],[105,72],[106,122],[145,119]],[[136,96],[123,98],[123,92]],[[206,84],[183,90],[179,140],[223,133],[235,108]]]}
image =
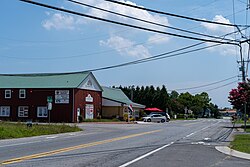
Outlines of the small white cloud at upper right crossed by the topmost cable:
{"label": "small white cloud at upper right crossed by the topmost cable", "polygon": [[[231,24],[231,22],[224,18],[222,15],[216,15],[213,18],[214,22],[219,22],[219,23],[227,23],[227,24]],[[229,26],[223,26],[223,25],[219,25],[219,24],[211,24],[211,23],[201,23],[201,25],[203,27],[205,27],[208,31],[211,31],[213,33],[219,34],[219,33],[229,33],[229,32],[233,32],[234,28],[233,27],[229,27]]]}

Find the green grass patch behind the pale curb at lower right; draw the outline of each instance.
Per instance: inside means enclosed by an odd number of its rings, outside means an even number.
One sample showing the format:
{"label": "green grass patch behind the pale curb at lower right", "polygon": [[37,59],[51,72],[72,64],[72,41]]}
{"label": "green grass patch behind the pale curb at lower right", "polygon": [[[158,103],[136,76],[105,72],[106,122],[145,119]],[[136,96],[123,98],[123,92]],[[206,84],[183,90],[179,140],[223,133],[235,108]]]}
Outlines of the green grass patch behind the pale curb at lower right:
{"label": "green grass patch behind the pale curb at lower right", "polygon": [[234,141],[231,142],[231,148],[250,154],[250,134],[236,135]]}

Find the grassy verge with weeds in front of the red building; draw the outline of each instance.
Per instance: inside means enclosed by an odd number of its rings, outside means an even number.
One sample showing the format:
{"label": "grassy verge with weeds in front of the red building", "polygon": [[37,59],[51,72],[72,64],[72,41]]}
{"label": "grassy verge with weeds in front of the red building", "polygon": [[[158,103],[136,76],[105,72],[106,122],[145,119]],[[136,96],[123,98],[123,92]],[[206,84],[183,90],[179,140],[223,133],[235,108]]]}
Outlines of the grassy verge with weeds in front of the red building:
{"label": "grassy verge with weeds in front of the red building", "polygon": [[68,125],[35,125],[27,127],[25,123],[0,122],[0,139],[31,137],[49,134],[81,131]]}

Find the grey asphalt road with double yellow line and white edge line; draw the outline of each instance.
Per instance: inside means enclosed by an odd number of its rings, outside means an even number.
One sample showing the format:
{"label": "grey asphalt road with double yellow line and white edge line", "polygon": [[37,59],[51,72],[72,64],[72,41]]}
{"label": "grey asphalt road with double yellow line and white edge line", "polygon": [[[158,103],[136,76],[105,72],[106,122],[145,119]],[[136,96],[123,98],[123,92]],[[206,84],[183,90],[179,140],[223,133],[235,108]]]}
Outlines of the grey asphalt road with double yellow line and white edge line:
{"label": "grey asphalt road with double yellow line and white edge line", "polygon": [[79,124],[83,132],[0,140],[0,166],[15,167],[249,167],[218,152],[232,132],[229,120]]}

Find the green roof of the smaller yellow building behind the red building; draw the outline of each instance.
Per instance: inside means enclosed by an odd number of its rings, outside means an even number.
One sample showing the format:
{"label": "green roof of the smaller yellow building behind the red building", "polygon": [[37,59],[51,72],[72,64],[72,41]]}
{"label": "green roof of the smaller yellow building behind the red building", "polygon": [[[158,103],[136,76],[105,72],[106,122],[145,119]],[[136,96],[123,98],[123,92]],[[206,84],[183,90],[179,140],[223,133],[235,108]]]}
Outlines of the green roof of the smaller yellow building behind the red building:
{"label": "green roof of the smaller yellow building behind the red building", "polygon": [[103,92],[102,92],[103,98],[116,101],[116,102],[120,102],[120,103],[124,103],[127,105],[131,104],[132,106],[136,106],[139,108],[145,108],[144,105],[132,102],[121,89],[110,88],[110,87],[105,87],[105,86],[102,86],[102,89],[103,89]]}

